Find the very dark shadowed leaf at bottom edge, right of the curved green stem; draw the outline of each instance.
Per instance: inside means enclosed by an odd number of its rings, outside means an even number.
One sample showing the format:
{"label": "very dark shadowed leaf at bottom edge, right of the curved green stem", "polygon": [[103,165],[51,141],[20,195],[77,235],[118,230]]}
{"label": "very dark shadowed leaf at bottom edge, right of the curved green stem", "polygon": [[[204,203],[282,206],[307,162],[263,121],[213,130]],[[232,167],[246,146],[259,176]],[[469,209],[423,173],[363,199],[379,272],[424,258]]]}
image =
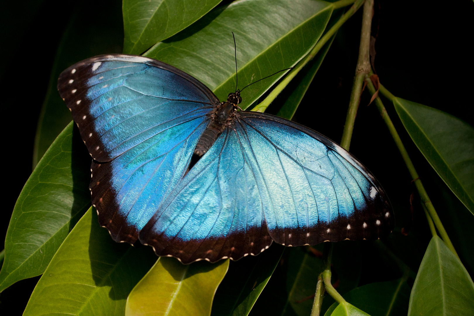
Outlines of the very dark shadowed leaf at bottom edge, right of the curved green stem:
{"label": "very dark shadowed leaf at bottom edge, right of the curved green stem", "polygon": [[[353,289],[343,297],[371,316],[407,315],[410,287],[405,279],[376,282]],[[324,315],[331,315],[337,306],[331,305]]]}

